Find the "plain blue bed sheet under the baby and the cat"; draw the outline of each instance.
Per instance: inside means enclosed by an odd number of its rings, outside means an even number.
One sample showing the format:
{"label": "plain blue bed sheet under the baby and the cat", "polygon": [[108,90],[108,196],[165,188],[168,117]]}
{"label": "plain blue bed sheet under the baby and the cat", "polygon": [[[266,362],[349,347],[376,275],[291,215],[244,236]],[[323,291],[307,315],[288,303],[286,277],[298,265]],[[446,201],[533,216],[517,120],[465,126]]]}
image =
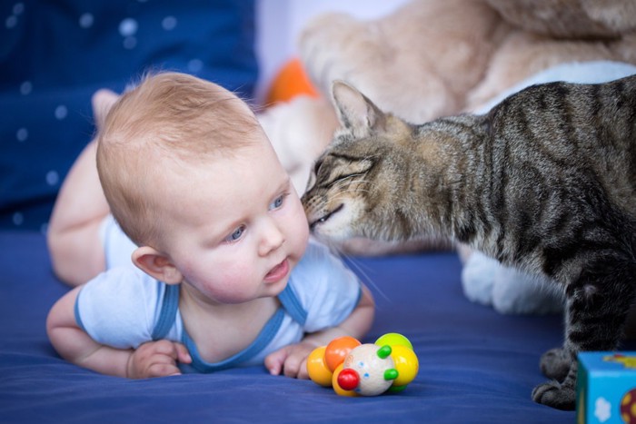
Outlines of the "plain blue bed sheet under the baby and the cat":
{"label": "plain blue bed sheet under the baby and the cat", "polygon": [[60,359],[45,334],[55,280],[39,232],[0,232],[0,422],[561,423],[574,412],[532,402],[538,361],[561,343],[561,318],[502,316],[467,301],[452,252],[349,261],[373,291],[364,341],[397,331],[420,372],[402,393],[343,398],[261,367],[125,380]]}

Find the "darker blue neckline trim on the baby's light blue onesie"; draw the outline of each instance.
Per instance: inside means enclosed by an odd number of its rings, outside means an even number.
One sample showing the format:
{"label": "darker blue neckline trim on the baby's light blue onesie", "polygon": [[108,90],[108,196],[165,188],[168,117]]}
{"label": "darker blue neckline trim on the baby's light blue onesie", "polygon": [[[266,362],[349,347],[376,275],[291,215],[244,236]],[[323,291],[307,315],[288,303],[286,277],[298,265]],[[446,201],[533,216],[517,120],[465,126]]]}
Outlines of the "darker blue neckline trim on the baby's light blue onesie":
{"label": "darker blue neckline trim on the baby's light blue onesie", "polygon": [[[256,339],[253,340],[247,348],[226,360],[215,363],[204,361],[201,358],[199,351],[196,349],[194,340],[190,338],[190,335],[184,329],[183,342],[192,357],[192,364],[190,364],[190,367],[198,372],[208,373],[233,368],[242,362],[251,360],[261,350],[263,350],[273,340],[276,333],[278,333],[278,330],[280,330],[281,325],[283,324],[285,311],[292,317],[293,320],[303,325],[305,320],[307,320],[307,311],[304,311],[303,305],[293,292],[292,285],[290,283],[288,283],[283,292],[278,295],[278,299],[281,301],[283,307],[279,308],[278,311],[273,314],[272,318],[265,323],[265,326],[259,333],[258,337],[256,337]],[[168,331],[174,325],[178,305],[179,286],[166,284],[164,300],[162,301],[161,311],[159,312],[159,319],[157,320],[153,330],[153,340],[163,339],[167,335]],[[186,371],[189,367],[182,364],[181,368]]]}

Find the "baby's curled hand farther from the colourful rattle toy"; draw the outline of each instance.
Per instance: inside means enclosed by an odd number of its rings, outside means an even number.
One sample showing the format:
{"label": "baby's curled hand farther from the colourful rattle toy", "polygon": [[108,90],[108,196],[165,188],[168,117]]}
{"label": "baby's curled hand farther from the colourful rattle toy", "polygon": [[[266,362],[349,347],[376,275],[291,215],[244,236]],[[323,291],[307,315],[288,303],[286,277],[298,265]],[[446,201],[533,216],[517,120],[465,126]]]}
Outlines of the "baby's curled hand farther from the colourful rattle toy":
{"label": "baby's curled hand farther from the colourful rattle toy", "polygon": [[126,374],[129,379],[181,374],[177,362],[192,362],[183,344],[170,340],[148,341],[134,350]]}

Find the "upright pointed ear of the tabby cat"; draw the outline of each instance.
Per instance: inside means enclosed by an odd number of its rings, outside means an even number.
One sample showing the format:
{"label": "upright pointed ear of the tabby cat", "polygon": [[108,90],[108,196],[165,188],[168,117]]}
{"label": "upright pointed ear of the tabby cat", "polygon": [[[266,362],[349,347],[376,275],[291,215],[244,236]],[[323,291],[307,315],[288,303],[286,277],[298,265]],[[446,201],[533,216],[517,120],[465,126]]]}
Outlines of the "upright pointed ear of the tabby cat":
{"label": "upright pointed ear of the tabby cat", "polygon": [[364,137],[384,127],[384,113],[353,86],[335,80],[332,94],[340,124],[355,137]]}

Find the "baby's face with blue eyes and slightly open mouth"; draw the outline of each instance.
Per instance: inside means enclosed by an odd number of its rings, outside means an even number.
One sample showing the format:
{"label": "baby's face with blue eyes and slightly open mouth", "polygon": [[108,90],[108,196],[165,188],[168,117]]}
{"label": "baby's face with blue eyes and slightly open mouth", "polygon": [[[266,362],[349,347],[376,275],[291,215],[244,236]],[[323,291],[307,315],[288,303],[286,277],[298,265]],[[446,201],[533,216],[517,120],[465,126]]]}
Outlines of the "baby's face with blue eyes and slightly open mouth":
{"label": "baby's face with blue eyes and slightly open mouth", "polygon": [[[263,135],[264,137],[264,135]],[[196,167],[168,202],[169,254],[204,301],[276,296],[303,256],[303,206],[271,144]]]}

